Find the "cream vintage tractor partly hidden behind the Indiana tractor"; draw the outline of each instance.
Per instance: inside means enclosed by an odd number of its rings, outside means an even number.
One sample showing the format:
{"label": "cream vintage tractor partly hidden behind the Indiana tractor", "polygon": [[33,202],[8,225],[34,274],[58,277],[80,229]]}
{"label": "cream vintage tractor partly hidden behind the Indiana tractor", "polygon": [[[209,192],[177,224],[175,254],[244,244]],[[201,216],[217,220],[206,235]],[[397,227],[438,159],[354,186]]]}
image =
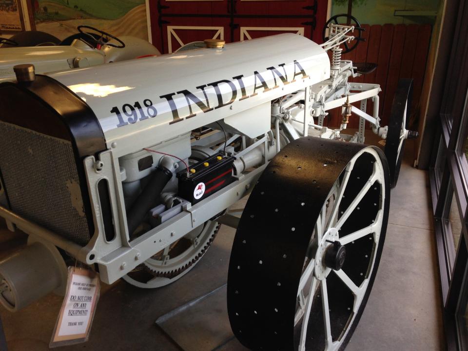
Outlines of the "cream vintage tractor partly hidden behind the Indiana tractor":
{"label": "cream vintage tractor partly hidden behind the Indiana tractor", "polygon": [[146,40],[131,36],[117,38],[85,25],[78,26],[76,35],[60,42],[54,38],[43,32],[0,38],[0,81],[15,79],[13,66],[21,63],[34,64],[36,73],[46,73],[160,55]]}

